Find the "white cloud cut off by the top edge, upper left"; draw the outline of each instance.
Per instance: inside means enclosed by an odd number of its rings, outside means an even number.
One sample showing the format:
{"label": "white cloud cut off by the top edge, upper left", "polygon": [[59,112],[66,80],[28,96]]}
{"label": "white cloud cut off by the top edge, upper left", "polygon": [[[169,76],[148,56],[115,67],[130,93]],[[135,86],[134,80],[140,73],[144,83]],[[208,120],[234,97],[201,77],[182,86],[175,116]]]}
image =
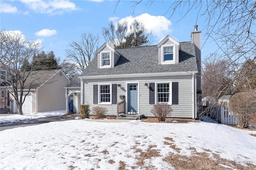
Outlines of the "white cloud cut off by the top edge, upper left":
{"label": "white cloud cut off by the top edge, upper left", "polygon": [[63,12],[78,10],[76,5],[68,0],[21,0],[21,2],[31,10],[46,14],[62,14]]}

